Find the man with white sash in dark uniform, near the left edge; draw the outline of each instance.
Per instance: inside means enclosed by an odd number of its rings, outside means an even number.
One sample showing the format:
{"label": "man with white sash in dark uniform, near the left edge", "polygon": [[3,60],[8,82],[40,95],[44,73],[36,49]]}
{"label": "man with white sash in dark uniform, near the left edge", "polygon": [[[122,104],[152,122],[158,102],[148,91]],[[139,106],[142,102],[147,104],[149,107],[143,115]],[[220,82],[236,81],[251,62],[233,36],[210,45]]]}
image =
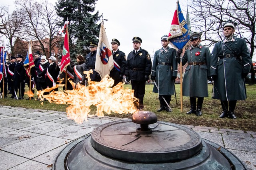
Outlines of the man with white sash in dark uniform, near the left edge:
{"label": "man with white sash in dark uniform, near the left edge", "polygon": [[14,81],[13,81],[14,68],[16,66],[16,62],[15,61],[16,61],[16,58],[11,56],[10,57],[10,63],[7,64],[8,70],[6,70],[8,85],[10,86],[10,92],[12,94],[11,98],[15,98],[15,94],[14,94]]}

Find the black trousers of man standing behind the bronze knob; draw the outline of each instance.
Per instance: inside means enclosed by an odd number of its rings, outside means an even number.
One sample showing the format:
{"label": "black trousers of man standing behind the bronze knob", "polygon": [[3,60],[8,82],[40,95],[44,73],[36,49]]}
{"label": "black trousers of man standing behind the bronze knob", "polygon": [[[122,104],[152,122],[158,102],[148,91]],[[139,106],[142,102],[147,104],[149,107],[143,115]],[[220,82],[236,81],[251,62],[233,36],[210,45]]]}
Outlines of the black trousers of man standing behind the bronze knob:
{"label": "black trousers of man standing behind the bronze knob", "polygon": [[142,109],[144,107],[143,99],[145,96],[146,81],[131,80],[131,82],[132,90],[134,90],[134,97],[139,99],[139,109]]}

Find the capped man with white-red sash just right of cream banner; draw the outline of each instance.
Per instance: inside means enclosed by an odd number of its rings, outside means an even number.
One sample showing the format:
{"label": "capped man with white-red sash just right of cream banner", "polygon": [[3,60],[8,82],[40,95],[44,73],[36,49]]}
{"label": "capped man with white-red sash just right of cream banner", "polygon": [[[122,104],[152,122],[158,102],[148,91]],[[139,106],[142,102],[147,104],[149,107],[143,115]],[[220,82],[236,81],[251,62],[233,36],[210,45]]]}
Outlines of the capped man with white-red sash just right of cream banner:
{"label": "capped man with white-red sash just right of cream banner", "polygon": [[123,81],[125,67],[126,67],[126,56],[124,52],[118,49],[120,42],[117,39],[112,39],[112,55],[114,59],[114,68],[110,70],[110,77],[114,79],[114,84],[112,87],[116,86],[119,82]]}

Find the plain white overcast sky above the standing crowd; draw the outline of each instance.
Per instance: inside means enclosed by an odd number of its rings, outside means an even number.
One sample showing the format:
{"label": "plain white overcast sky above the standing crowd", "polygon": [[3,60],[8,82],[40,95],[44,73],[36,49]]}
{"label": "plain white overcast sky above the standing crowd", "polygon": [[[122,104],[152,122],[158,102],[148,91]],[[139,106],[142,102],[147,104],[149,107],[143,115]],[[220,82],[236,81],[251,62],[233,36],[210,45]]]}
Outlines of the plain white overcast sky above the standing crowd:
{"label": "plain white overcast sky above the standing crowd", "polygon": [[[14,8],[14,0],[2,0],[0,4]],[[49,2],[57,2],[50,0]],[[119,49],[128,55],[133,50],[132,38],[142,39],[141,47],[150,55],[160,49],[161,37],[168,35],[176,0],[98,0],[96,10],[103,13],[104,27],[109,43],[113,38],[120,41]],[[186,18],[186,1],[179,1]],[[55,3],[54,3],[55,4]],[[63,23],[64,24],[64,23]]]}

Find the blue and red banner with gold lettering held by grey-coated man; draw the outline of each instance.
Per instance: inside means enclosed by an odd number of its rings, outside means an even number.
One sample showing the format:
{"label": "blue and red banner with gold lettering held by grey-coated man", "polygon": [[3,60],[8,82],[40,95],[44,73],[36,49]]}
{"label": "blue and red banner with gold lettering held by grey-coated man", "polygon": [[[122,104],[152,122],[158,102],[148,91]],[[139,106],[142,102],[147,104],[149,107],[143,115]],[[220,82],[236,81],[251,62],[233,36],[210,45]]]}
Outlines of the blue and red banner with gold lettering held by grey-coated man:
{"label": "blue and red banner with gold lettering held by grey-coated man", "polygon": [[190,41],[188,25],[183,16],[179,1],[177,1],[177,9],[174,12],[168,40],[176,50],[183,49]]}

